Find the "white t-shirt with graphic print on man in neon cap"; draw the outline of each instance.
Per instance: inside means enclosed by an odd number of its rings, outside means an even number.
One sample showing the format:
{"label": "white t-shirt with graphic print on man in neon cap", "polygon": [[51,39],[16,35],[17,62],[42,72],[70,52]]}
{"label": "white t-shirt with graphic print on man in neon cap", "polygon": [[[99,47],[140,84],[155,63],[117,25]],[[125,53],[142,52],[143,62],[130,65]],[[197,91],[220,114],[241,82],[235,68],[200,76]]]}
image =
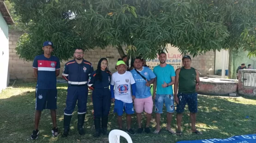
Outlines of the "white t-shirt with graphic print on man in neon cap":
{"label": "white t-shirt with graphic print on man in neon cap", "polygon": [[134,84],[134,78],[130,71],[125,71],[124,74],[115,72],[111,77],[111,85],[114,85],[115,99],[125,103],[132,103],[131,84]]}

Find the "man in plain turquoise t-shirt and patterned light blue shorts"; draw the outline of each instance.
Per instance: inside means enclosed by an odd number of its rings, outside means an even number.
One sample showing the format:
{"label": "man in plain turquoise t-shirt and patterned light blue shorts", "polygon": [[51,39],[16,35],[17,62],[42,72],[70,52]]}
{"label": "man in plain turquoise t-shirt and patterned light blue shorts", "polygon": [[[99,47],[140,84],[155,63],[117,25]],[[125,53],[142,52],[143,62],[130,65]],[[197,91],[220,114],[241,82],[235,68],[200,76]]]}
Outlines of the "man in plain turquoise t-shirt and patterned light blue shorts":
{"label": "man in plain turquoise t-shirt and patterned light blue shorts", "polygon": [[[173,118],[174,98],[173,98],[173,84],[175,83],[175,71],[173,66],[166,63],[167,55],[164,52],[159,54],[160,65],[155,66],[153,72],[155,73],[156,80],[154,82],[154,99],[155,99],[155,121],[156,130],[158,134],[161,130],[160,119],[163,113],[163,104],[167,108],[167,131],[174,134],[171,129],[171,122]],[[155,92],[156,90],[156,92]]]}

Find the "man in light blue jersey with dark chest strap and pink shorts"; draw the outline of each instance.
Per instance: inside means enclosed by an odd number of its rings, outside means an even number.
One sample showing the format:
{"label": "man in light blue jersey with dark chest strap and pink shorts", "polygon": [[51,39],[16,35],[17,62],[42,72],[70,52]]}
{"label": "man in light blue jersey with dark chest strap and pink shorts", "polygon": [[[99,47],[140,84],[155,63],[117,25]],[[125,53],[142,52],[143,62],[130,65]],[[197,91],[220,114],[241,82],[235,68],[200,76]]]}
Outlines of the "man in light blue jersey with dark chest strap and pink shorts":
{"label": "man in light blue jersey with dark chest strap and pink shorts", "polygon": [[151,114],[153,110],[153,100],[150,93],[150,84],[155,82],[155,74],[148,68],[143,66],[143,60],[136,57],[133,66],[135,69],[131,70],[131,74],[136,82],[136,98],[134,99],[134,107],[137,113],[138,133],[143,132],[141,126],[141,113],[143,110],[147,113],[147,124],[145,132],[149,133],[149,123],[151,121]]}

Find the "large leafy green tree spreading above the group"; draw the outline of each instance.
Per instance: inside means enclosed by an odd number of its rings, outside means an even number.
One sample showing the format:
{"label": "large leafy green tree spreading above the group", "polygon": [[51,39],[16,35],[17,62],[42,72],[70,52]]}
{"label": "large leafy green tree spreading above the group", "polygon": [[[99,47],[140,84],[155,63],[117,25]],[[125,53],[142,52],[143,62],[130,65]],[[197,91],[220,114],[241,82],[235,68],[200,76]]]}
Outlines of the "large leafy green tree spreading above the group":
{"label": "large leafy green tree spreading above the group", "polygon": [[193,56],[240,47],[256,55],[255,0],[10,0],[30,23],[17,53],[33,60],[45,40],[61,60],[74,48],[122,46],[130,55],[154,58],[173,44]]}

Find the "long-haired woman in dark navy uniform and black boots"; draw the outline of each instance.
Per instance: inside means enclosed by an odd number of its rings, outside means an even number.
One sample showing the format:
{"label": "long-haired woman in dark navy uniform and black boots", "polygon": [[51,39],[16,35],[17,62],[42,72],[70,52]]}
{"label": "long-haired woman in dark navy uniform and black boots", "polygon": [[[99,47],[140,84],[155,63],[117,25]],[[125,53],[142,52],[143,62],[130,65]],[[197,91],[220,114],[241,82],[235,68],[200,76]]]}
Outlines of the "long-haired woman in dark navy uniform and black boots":
{"label": "long-haired woman in dark navy uniform and black boots", "polygon": [[111,73],[106,58],[101,58],[97,70],[89,76],[88,85],[92,92],[95,137],[107,134],[108,114],[111,105],[109,90]]}

